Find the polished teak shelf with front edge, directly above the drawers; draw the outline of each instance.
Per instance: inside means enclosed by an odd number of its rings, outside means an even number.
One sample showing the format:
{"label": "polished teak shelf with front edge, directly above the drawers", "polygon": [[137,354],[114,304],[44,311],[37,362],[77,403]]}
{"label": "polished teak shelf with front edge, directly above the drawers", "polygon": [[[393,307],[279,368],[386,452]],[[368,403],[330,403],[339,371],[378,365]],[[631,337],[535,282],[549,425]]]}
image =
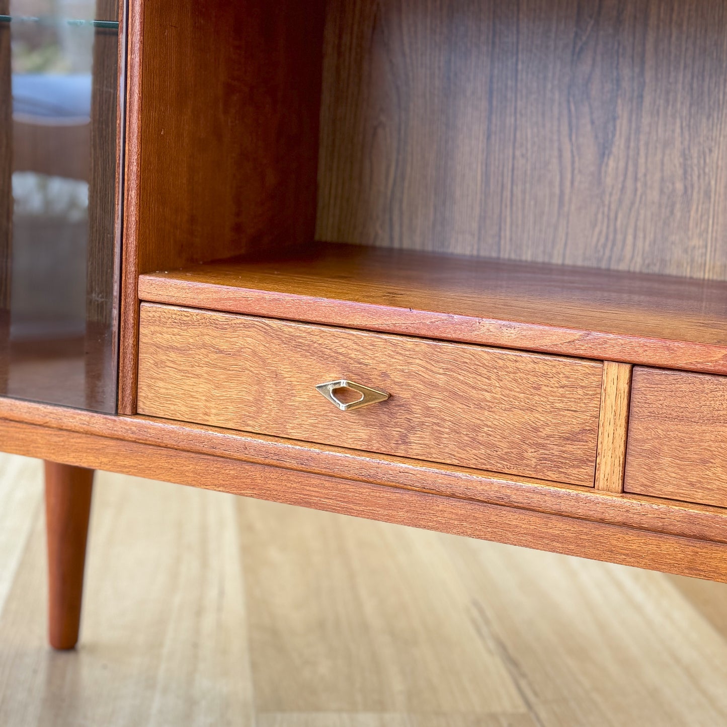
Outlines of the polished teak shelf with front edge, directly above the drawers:
{"label": "polished teak shelf with front edge, directly above the drawers", "polygon": [[140,276],[140,300],[727,374],[727,284],[344,244]]}

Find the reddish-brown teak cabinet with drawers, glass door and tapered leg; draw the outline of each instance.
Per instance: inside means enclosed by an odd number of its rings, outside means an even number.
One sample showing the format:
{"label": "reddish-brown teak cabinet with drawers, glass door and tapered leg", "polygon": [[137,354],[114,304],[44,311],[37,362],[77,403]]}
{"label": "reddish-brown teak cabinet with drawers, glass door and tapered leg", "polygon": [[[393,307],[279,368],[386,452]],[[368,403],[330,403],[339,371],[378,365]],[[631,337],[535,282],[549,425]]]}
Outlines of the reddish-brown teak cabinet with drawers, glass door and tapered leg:
{"label": "reddish-brown teak cabinet with drawers, glass door and tapered leg", "polygon": [[40,121],[29,1],[0,448],[54,646],[95,469],[727,581],[726,2],[97,0]]}

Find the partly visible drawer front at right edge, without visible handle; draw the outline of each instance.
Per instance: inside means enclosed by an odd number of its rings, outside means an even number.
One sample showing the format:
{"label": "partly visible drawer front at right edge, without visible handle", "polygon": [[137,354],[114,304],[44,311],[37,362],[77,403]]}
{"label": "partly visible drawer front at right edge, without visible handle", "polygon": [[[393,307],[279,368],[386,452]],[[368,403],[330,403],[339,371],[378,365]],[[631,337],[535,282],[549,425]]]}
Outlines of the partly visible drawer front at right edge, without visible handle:
{"label": "partly visible drawer front at right edge, without visible handle", "polygon": [[727,507],[727,377],[634,367],[624,489]]}

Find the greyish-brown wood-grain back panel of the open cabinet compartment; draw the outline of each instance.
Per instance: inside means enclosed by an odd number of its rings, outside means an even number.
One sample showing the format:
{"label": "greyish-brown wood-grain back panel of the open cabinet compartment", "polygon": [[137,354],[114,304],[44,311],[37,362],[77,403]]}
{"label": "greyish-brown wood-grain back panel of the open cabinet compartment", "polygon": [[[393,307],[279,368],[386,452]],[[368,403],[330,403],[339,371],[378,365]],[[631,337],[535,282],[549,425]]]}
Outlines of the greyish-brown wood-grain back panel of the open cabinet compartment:
{"label": "greyish-brown wood-grain back panel of the open cabinet compartment", "polygon": [[722,0],[329,0],[317,237],[727,279]]}

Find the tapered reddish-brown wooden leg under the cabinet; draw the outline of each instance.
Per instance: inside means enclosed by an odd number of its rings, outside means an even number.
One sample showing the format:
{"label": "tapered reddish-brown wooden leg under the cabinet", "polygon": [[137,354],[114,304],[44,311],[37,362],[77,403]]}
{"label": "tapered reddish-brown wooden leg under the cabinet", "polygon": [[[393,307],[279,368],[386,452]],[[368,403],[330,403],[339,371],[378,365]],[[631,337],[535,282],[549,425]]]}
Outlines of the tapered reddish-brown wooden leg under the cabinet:
{"label": "tapered reddish-brown wooden leg under the cabinet", "polygon": [[94,470],[45,463],[48,534],[49,639],[76,646],[84,590],[86,539]]}

